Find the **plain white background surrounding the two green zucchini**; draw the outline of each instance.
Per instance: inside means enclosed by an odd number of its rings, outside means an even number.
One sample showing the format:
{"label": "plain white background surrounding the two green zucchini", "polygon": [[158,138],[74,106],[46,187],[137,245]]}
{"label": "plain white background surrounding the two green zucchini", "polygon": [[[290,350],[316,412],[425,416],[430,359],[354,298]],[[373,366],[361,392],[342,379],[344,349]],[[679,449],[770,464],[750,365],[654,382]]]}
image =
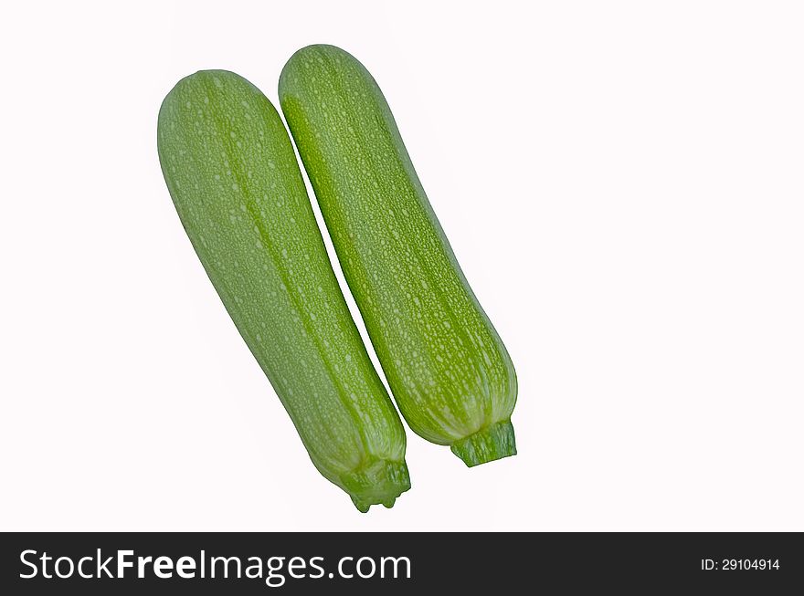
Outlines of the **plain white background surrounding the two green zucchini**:
{"label": "plain white background surrounding the two green zucchini", "polygon": [[[804,530],[796,2],[14,3],[0,529]],[[384,89],[519,374],[520,455],[408,433],[359,514],[175,214],[156,114],[311,43]]]}

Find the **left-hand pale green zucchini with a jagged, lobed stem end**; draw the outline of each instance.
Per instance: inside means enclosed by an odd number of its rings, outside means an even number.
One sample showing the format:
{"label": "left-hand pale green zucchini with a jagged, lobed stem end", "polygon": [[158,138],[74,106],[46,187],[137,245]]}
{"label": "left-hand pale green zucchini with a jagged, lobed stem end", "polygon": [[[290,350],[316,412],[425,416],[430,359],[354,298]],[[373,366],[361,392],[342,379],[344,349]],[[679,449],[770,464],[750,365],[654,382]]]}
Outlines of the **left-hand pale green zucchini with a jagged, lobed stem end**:
{"label": "left-hand pale green zucchini with a jagged, lobed stem end", "polygon": [[209,279],[321,474],[367,511],[410,487],[405,430],[354,325],[280,115],[223,70],[159,111],[159,161]]}

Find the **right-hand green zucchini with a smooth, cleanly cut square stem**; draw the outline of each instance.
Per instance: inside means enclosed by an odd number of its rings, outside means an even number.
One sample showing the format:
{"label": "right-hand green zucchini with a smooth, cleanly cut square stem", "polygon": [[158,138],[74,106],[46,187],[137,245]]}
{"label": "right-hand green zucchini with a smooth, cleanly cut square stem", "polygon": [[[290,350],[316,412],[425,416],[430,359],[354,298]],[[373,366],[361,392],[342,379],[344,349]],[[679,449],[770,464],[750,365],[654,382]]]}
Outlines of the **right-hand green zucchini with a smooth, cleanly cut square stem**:
{"label": "right-hand green zucchini with a smooth, cleanly cut square stem", "polygon": [[280,104],[344,275],[411,429],[467,465],[515,455],[516,373],[460,270],[382,91],[344,50],[309,46]]}

